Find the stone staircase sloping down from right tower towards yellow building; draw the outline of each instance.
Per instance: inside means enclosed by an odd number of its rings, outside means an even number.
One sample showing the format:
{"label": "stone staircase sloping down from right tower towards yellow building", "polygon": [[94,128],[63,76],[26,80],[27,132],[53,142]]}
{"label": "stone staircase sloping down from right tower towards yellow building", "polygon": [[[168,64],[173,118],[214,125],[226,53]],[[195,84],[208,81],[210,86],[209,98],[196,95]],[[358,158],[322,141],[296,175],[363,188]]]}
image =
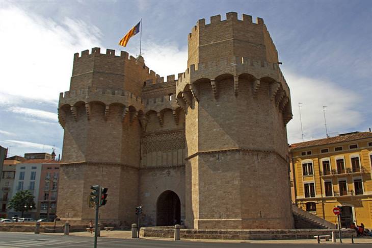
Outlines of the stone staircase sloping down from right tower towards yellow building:
{"label": "stone staircase sloping down from right tower towards yellow building", "polygon": [[336,225],[292,205],[296,229],[336,229]]}

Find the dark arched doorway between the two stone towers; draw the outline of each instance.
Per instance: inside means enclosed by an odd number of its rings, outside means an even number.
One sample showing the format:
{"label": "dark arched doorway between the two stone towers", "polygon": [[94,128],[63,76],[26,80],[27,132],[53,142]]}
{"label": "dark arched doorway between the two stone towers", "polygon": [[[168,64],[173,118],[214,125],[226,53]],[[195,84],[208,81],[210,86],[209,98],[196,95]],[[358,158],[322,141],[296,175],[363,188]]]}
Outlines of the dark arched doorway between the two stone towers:
{"label": "dark arched doorway between the two stone towers", "polygon": [[164,191],[156,202],[156,226],[173,226],[181,222],[181,202],[178,195],[171,191]]}

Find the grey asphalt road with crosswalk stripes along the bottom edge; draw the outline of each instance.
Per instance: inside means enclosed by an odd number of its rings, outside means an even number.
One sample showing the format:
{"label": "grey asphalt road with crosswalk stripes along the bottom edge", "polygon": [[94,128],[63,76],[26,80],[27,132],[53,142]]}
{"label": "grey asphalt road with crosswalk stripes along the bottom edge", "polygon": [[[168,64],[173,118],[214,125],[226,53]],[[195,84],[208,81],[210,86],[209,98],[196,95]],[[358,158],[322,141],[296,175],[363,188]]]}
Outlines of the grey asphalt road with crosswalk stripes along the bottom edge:
{"label": "grey asphalt road with crosswalk stripes along the bottom edge", "polygon": [[[319,247],[319,244],[258,244],[258,243],[222,243],[222,242],[193,242],[193,241],[166,241],[166,240],[149,240],[149,239],[116,239],[116,238],[98,238],[98,248],[108,247],[132,247],[132,248],[145,248],[145,247],[259,247],[259,248],[297,248],[297,247]],[[322,245],[322,244],[321,244]],[[358,248],[371,247],[371,244],[343,244],[342,247],[357,246]],[[49,248],[62,248],[62,247],[93,247],[93,237],[81,236],[68,236],[68,235],[48,235],[48,234],[32,234],[32,233],[5,233],[0,232],[0,248],[23,248],[23,247],[49,247]],[[327,244],[328,247],[340,247],[340,244]]]}

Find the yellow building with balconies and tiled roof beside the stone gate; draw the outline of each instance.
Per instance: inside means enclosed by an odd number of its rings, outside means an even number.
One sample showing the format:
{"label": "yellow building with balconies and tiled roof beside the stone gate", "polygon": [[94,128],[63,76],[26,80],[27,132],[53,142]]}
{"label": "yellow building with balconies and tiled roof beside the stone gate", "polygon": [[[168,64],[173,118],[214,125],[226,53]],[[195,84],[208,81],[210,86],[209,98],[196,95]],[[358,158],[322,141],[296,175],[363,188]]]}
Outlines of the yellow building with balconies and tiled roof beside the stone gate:
{"label": "yellow building with balconies and tiled roof beside the stone gate", "polygon": [[337,223],[372,228],[372,133],[354,132],[289,146],[292,201]]}

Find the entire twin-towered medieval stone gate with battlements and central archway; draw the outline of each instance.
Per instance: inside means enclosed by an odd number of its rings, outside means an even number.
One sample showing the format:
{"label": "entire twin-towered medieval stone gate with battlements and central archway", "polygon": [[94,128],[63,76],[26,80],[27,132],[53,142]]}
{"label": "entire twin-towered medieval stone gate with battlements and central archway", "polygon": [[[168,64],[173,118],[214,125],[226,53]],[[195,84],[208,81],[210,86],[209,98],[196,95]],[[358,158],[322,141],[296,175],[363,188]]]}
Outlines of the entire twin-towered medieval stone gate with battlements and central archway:
{"label": "entire twin-towered medieval stone gate with battlements and central archway", "polygon": [[125,52],[75,54],[61,93],[57,215],[86,223],[90,186],[109,188],[101,222],[195,229],[293,227],[289,88],[261,18],[197,22],[188,68],[164,82]]}

